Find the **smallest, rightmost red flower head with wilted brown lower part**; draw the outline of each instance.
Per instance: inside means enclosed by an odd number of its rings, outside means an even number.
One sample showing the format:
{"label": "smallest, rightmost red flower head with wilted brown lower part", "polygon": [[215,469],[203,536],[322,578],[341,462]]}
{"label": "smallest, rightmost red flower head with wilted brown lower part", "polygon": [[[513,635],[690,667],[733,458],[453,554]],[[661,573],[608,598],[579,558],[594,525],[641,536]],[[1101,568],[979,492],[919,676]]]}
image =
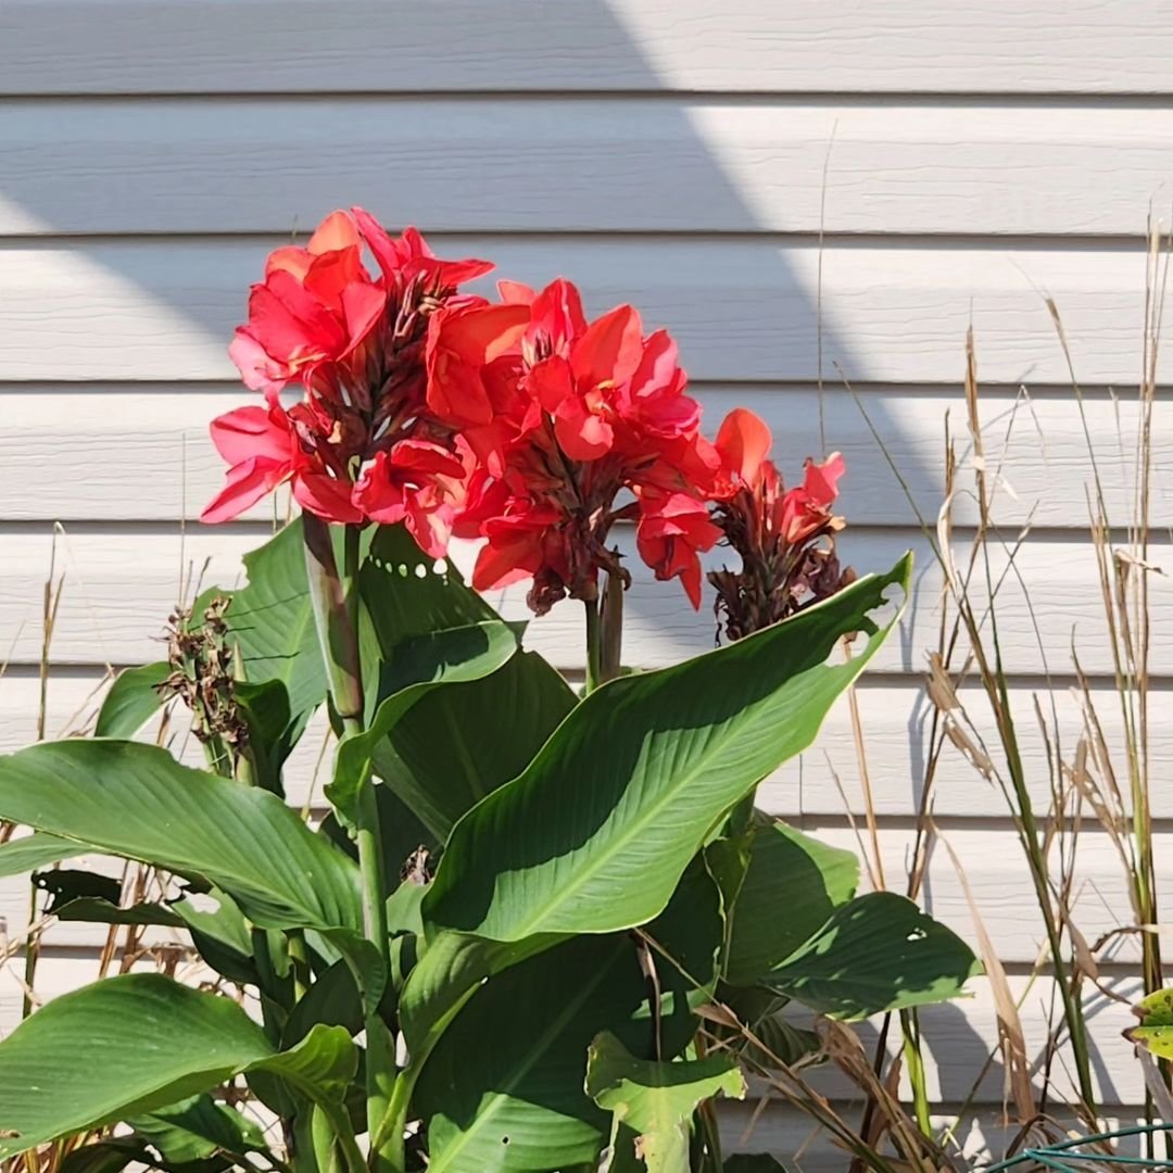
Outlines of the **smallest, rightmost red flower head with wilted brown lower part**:
{"label": "smallest, rightmost red flower head with wilted brown lower part", "polygon": [[832,513],[843,475],[839,453],[821,465],[806,462],[802,484],[786,490],[767,459],[769,428],[753,412],[735,408],[721,423],[721,468],[713,493],[713,521],[741,556],[741,569],[711,571],[717,613],[730,639],[785,619],[826,598],[855,577],[840,568],[835,534],[845,526]]}

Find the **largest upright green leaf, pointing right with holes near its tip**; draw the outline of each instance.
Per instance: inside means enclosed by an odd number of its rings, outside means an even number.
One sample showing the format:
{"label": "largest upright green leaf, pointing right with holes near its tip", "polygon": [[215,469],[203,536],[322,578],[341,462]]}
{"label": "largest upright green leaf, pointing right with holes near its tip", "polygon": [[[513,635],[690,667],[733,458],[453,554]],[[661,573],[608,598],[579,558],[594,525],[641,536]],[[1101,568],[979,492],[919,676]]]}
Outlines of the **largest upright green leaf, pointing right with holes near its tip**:
{"label": "largest upright green leaf, pointing right with holes near its tip", "polygon": [[[730,647],[586,698],[453,829],[425,915],[500,941],[642,924],[721,815],[805,750],[896,622],[910,557]],[[861,632],[848,662],[840,640]]]}

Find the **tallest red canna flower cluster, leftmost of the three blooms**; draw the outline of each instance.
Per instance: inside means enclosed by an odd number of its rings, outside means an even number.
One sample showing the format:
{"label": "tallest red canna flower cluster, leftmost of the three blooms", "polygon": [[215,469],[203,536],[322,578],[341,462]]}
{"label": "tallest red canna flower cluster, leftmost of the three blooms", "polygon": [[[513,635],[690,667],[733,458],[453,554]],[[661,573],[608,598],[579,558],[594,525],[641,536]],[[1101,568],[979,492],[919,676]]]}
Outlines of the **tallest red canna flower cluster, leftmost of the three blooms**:
{"label": "tallest red canna flower cluster, leftmost of the three blooms", "polygon": [[[306,248],[271,253],[229,348],[267,402],[213,421],[231,467],[203,520],[236,517],[291,482],[301,508],[327,521],[406,521],[442,554],[466,469],[453,430],[426,409],[427,324],[491,267],[440,260],[414,229],[393,239],[360,208],[327,216]],[[290,382],[305,396],[286,411],[278,394]]]}

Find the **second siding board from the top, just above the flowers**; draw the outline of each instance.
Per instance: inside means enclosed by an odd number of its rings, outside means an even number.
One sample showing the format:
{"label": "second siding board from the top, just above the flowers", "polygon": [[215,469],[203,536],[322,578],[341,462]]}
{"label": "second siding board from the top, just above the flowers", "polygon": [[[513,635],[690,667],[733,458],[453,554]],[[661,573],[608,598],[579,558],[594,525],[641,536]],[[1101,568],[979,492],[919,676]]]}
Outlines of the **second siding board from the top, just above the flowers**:
{"label": "second siding board from the top, just above the flowers", "polygon": [[13,102],[0,235],[289,232],[353,203],[433,231],[1137,235],[1171,154],[1167,110],[1070,103]]}

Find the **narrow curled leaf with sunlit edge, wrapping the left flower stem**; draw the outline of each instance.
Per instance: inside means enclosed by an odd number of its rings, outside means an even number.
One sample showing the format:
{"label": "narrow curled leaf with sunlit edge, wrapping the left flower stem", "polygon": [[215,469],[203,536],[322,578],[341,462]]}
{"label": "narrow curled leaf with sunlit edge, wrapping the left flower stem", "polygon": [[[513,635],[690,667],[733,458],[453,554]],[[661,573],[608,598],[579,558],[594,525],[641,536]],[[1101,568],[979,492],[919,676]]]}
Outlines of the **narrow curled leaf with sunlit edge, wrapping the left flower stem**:
{"label": "narrow curled leaf with sunlit edge, wrapping the left flower stem", "polygon": [[[517,647],[517,638],[500,619],[448,628],[400,643],[387,665],[393,670],[367,728],[346,738],[334,758],[334,778],[326,786],[339,818],[354,825],[358,796],[371,778],[379,743],[429,690],[445,682],[475,680],[501,667]],[[389,674],[389,673],[385,673]]]}

